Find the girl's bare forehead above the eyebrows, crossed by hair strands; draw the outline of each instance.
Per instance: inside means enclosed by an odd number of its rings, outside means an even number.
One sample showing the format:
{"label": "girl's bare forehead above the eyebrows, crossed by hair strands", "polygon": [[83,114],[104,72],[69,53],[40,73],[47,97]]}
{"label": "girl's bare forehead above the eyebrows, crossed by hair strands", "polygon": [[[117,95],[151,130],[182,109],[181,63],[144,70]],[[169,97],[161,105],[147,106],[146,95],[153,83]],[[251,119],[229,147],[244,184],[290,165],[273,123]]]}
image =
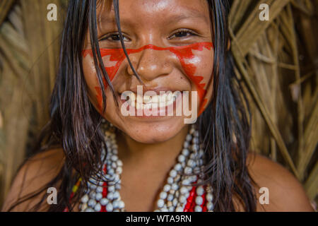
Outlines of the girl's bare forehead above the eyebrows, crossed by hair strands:
{"label": "girl's bare forehead above the eyebrows, crossed by hair strands", "polygon": [[[160,23],[176,22],[187,18],[210,22],[206,0],[119,0],[119,14],[122,22]],[[110,0],[98,2],[99,23],[114,23],[114,6]]]}

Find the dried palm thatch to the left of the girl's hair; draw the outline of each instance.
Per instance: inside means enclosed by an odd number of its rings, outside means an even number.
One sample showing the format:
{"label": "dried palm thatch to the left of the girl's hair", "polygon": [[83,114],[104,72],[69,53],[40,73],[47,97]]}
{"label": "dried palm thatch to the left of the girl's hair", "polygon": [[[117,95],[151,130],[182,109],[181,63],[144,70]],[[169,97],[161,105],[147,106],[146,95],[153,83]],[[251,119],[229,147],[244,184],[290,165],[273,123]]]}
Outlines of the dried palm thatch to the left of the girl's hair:
{"label": "dried palm thatch to the left of the girl's hair", "polygon": [[60,6],[59,0],[0,3],[0,203],[30,154],[28,144],[49,119],[64,15],[60,7],[59,20],[49,22],[47,5],[52,3]]}

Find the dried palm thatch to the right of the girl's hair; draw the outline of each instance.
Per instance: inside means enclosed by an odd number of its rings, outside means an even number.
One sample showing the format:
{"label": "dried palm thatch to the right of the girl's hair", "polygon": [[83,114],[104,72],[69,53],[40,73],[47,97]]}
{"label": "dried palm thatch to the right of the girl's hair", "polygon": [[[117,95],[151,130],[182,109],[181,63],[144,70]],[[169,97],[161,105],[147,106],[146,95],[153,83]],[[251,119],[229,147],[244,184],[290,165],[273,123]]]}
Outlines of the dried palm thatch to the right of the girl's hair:
{"label": "dried palm thatch to the right of the girl's hair", "polygon": [[[260,4],[269,5],[269,21],[259,20]],[[237,73],[254,103],[254,149],[283,160],[312,199],[318,189],[317,11],[318,1],[235,0],[230,15]]]}

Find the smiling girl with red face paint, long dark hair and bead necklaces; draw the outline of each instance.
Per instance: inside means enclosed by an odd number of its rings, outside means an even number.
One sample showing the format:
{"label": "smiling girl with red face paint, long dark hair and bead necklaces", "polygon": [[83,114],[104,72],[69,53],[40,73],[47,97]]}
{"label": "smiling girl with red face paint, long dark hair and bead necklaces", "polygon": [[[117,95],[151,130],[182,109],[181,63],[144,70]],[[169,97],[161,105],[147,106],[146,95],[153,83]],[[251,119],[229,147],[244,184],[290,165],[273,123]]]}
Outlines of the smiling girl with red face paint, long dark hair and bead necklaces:
{"label": "smiling girl with red face paint, long dark hair and bead necklaces", "polygon": [[3,210],[312,210],[286,169],[249,150],[229,9],[226,0],[71,0],[51,121]]}

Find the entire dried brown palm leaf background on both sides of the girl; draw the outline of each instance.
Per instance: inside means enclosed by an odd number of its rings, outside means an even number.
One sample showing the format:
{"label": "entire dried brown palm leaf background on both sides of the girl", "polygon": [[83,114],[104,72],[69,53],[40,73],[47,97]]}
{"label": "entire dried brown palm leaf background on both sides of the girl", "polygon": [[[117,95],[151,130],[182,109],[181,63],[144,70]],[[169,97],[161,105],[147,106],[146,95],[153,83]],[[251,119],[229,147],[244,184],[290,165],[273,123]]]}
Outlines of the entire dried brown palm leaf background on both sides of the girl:
{"label": "entire dried brown palm leaf background on both sides of the girl", "polygon": [[[58,20],[47,20],[57,4]],[[270,7],[259,20],[260,4]],[[0,1],[0,205],[48,120],[66,0]],[[252,149],[318,191],[318,0],[234,0],[236,73],[252,109]]]}

